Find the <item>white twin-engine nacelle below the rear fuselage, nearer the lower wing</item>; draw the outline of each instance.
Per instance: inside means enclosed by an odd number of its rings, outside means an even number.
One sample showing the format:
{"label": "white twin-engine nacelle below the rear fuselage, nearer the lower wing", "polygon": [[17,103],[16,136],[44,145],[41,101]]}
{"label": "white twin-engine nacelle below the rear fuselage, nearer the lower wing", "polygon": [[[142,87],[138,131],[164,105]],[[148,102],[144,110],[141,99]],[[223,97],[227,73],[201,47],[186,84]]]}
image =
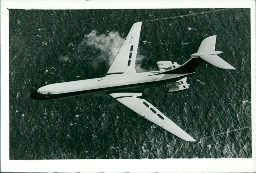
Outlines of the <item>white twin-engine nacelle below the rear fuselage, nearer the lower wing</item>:
{"label": "white twin-engine nacelle below the rear fuselage, nearer the lower wing", "polygon": [[175,93],[188,89],[188,86],[190,85],[187,84],[187,77],[185,77],[176,82],[168,82],[164,87],[167,89],[168,93]]}

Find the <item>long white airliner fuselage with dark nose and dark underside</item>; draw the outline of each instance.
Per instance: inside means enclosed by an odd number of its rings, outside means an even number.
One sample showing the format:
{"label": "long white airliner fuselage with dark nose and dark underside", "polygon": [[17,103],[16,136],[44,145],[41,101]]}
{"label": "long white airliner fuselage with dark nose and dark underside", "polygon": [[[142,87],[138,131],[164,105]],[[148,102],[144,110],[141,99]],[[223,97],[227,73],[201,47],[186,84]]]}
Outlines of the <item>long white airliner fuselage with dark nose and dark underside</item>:
{"label": "long white airliner fuselage with dark nose and dark underside", "polygon": [[[161,71],[143,73],[110,74],[103,78],[55,83],[40,87],[32,97],[37,100],[52,100],[81,94],[98,94],[127,89],[145,89],[162,85],[190,74],[158,74]],[[30,96],[31,97],[31,96]]]}

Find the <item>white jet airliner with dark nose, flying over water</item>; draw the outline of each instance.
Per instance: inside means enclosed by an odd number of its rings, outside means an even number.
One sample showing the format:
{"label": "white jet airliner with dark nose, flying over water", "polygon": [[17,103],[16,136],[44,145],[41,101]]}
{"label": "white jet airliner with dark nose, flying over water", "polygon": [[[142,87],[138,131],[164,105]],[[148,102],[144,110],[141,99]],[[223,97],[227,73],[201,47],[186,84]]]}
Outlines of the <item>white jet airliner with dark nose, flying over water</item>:
{"label": "white jet airliner with dark nose, flying over water", "polygon": [[137,22],[132,25],[105,77],[46,85],[33,92],[30,98],[53,100],[106,93],[177,137],[186,141],[196,141],[148,102],[143,90],[164,85],[169,93],[184,91],[190,86],[187,84],[187,76],[194,74],[196,68],[204,61],[222,69],[235,68],[218,56],[222,52],[215,51],[216,35],[213,35],[205,38],[197,53],[192,54],[191,58],[182,65],[172,61],[158,61],[157,71],[136,73],[135,62],[141,24],[142,22]]}

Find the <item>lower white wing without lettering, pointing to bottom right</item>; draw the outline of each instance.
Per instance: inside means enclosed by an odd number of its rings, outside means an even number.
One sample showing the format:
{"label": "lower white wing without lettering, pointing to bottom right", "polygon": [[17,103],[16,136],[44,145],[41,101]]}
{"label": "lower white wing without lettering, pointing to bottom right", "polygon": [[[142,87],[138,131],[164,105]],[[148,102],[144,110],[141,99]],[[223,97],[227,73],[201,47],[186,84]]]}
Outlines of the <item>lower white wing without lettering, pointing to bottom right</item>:
{"label": "lower white wing without lettering, pointing to bottom right", "polygon": [[196,141],[189,136],[188,133],[184,132],[177,124],[156,109],[156,107],[154,107],[151,103],[147,102],[143,98],[142,93],[111,93],[109,95],[115,98],[118,102],[124,104],[126,107],[132,109],[140,116],[157,124],[179,138],[186,141]]}

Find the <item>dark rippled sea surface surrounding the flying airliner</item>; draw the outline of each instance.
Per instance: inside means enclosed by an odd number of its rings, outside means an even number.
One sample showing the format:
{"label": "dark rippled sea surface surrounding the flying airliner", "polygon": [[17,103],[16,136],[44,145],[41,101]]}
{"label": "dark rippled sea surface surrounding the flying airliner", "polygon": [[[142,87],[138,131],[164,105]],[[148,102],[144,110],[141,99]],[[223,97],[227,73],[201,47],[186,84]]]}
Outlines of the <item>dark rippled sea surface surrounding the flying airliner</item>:
{"label": "dark rippled sea surface surrounding the flying airliner", "polygon": [[211,10],[9,9],[10,159],[252,157],[250,9],[142,23],[137,72],[156,70],[157,61],[183,64],[211,35],[217,35],[219,56],[236,68],[204,62],[184,92],[145,90],[148,101],[196,142],[107,94],[29,98],[44,85],[104,77],[135,22]]}

